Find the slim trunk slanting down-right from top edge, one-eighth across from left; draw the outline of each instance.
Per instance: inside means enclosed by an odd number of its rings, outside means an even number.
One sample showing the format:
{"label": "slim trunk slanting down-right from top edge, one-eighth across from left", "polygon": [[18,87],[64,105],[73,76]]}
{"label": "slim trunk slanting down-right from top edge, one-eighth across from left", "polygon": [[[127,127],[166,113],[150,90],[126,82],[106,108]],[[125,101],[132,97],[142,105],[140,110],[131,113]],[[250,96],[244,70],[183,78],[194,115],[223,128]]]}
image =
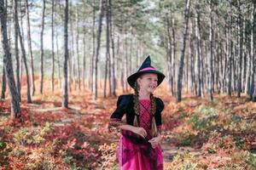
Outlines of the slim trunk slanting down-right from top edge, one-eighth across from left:
{"label": "slim trunk slanting down-right from top edge, one-eighth across from left", "polygon": [[30,19],[29,19],[29,7],[28,7],[28,2],[26,0],[26,30],[27,30],[27,48],[28,48],[28,54],[30,56],[31,60],[31,91],[32,95],[35,94],[35,77],[34,77],[34,61],[33,61],[33,55],[32,55],[32,39],[31,39],[31,31],[30,31]]}

